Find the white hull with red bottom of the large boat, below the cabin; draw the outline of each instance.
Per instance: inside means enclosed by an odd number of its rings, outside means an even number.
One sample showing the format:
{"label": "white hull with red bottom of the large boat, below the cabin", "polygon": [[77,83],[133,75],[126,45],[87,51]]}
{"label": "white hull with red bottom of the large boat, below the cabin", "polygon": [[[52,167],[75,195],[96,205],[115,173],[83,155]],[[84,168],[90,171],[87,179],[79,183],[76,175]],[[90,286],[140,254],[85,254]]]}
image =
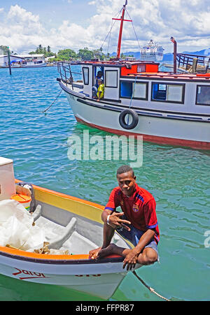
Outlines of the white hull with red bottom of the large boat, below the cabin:
{"label": "white hull with red bottom of the large boat, below the cabin", "polygon": [[[125,110],[125,108],[120,108],[120,104],[115,106],[113,103],[110,105],[106,103],[105,108],[104,103],[91,100],[81,102],[78,101],[80,98],[69,92],[66,92],[66,95],[78,122],[120,135],[143,135],[145,141],[210,149],[210,124],[208,121],[193,121],[193,117],[186,114],[181,116],[165,113],[160,117],[158,111],[155,113],[135,109],[139,122],[134,129],[128,130],[120,126],[120,112]],[[155,115],[157,116],[155,117]]]}

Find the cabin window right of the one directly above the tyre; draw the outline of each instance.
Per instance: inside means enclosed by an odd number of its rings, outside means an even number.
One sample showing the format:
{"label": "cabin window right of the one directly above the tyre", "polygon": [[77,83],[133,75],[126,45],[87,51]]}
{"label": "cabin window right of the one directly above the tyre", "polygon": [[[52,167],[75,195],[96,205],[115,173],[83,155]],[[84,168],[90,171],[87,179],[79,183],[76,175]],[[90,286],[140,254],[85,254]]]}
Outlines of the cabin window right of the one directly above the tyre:
{"label": "cabin window right of the one directly above the tyre", "polygon": [[184,86],[153,82],[151,101],[184,103]]}

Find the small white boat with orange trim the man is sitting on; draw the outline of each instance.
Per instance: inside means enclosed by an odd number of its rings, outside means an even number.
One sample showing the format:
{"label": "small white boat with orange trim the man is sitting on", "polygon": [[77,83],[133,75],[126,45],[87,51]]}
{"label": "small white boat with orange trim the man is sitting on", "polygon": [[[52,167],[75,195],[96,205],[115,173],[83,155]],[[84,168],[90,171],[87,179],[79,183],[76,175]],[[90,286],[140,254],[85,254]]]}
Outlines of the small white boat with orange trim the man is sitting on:
{"label": "small white boat with orange trim the man is sitting on", "polygon": [[[13,161],[0,157],[0,200],[4,202],[14,186],[12,166]],[[15,182],[20,184],[18,180]],[[44,229],[48,249],[69,251],[69,254],[39,254],[40,251],[17,249],[10,244],[0,246],[0,273],[20,281],[65,286],[99,298],[110,298],[127,270],[123,269],[121,256],[107,256],[98,261],[89,258],[89,251],[102,244],[104,207],[35,185],[33,191],[36,210],[31,216],[36,228]],[[121,247],[132,247],[117,233],[113,242]]]}

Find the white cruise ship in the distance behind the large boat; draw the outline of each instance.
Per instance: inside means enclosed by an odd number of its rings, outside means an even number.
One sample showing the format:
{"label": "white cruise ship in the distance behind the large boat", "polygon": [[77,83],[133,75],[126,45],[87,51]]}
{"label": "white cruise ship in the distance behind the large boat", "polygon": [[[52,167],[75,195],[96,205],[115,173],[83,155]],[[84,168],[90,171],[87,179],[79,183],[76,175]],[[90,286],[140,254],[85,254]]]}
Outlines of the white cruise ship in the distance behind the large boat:
{"label": "white cruise ship in the distance behind the large boat", "polygon": [[164,48],[157,43],[149,41],[148,44],[141,48],[142,61],[162,61]]}

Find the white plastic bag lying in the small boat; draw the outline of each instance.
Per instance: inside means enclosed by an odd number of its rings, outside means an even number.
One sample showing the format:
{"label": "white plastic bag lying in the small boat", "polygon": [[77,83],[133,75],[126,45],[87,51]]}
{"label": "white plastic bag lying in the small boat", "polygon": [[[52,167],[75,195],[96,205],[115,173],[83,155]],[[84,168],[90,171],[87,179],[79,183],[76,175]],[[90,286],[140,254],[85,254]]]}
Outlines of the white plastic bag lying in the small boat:
{"label": "white plastic bag lying in the small boat", "polygon": [[31,251],[45,242],[44,230],[33,226],[34,219],[15,200],[0,201],[0,246]]}

